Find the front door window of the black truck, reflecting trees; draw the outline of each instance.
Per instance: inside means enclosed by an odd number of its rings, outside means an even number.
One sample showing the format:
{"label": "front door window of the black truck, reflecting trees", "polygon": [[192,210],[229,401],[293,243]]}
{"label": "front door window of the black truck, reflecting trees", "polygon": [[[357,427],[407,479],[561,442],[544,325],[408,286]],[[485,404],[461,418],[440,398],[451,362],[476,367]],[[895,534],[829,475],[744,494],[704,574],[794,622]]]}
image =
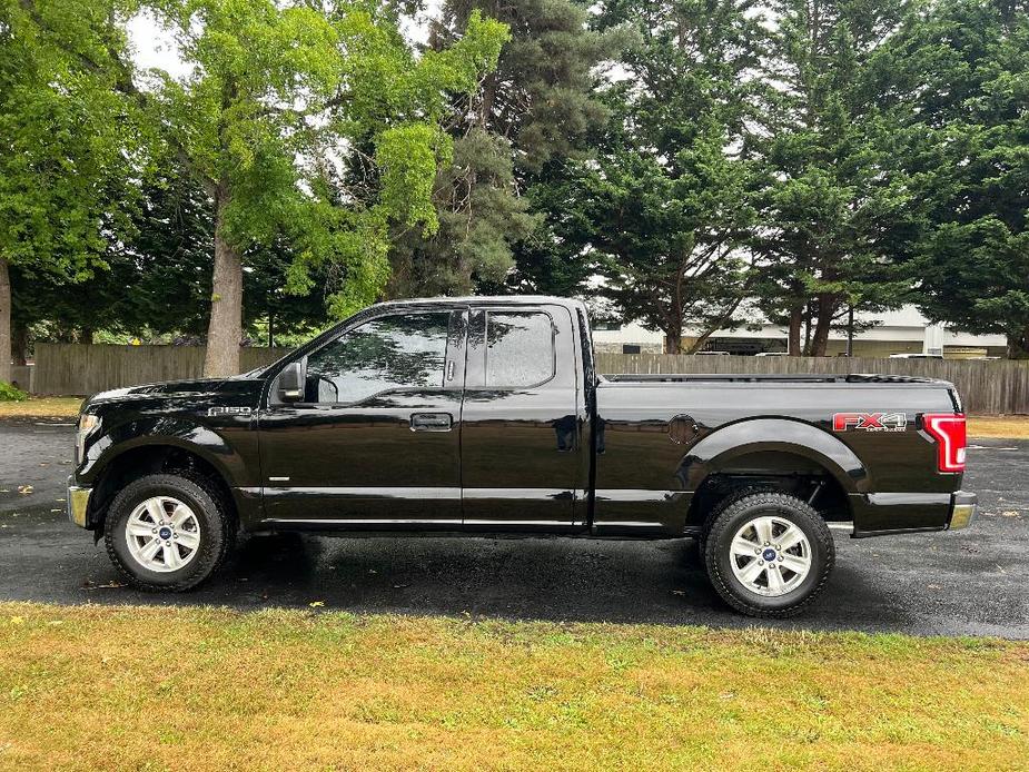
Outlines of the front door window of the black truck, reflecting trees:
{"label": "front door window of the black truck, reflecting trees", "polygon": [[307,359],[307,402],[355,403],[395,388],[443,386],[447,311],[385,316]]}

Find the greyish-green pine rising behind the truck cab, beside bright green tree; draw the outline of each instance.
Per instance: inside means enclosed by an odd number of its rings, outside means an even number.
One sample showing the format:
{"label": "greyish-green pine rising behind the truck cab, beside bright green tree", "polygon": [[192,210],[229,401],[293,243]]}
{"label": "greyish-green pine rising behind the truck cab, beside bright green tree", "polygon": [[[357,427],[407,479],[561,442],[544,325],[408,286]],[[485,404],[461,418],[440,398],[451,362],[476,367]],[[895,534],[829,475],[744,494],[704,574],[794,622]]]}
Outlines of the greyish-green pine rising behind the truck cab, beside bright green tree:
{"label": "greyish-green pine rising behind the truck cab, beside bright green tree", "polygon": [[591,29],[585,4],[453,0],[444,4],[425,59],[461,46],[461,30],[478,23],[481,12],[509,28],[509,42],[471,97],[451,100],[454,164],[441,165],[433,186],[439,228],[394,229],[394,297],[508,289],[516,260],[530,264],[553,243],[546,210],[533,205],[546,194],[536,196],[535,187],[553,167],[583,156],[590,131],[606,117],[594,68],[615,56],[621,38]]}

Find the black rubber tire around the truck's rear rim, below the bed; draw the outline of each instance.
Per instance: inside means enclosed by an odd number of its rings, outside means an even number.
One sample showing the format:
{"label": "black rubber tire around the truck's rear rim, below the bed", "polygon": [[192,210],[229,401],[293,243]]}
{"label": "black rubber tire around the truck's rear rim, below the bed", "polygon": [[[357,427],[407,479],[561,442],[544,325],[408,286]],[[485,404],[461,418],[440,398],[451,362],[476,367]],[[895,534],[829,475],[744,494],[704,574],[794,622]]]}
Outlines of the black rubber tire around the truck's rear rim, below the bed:
{"label": "black rubber tire around the truck's rear rim, below the bed", "polygon": [[[761,595],[740,582],[732,570],[731,561],[735,560],[730,552],[733,537],[749,521],[762,515],[789,521],[803,532],[811,547],[811,566],[807,576],[783,595]],[[797,614],[825,587],[834,563],[835,544],[825,521],[813,507],[784,493],[762,491],[733,496],[725,506],[716,507],[704,540],[704,564],[715,592],[733,608],[749,616],[773,618]],[[738,565],[745,567],[746,563]]]}

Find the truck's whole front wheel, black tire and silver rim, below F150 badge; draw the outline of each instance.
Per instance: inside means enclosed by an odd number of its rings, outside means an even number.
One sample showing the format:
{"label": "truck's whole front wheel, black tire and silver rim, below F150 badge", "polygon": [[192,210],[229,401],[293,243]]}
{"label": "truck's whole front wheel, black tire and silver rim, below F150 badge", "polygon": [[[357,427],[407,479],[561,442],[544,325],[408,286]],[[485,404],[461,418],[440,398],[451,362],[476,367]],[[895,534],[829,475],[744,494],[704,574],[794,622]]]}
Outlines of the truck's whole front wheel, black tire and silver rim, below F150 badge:
{"label": "truck's whole front wheel, black tire and silver rim, below F150 badge", "polygon": [[127,485],[103,527],[107,554],[141,590],[181,592],[220,565],[234,531],[225,502],[201,477],[156,474]]}

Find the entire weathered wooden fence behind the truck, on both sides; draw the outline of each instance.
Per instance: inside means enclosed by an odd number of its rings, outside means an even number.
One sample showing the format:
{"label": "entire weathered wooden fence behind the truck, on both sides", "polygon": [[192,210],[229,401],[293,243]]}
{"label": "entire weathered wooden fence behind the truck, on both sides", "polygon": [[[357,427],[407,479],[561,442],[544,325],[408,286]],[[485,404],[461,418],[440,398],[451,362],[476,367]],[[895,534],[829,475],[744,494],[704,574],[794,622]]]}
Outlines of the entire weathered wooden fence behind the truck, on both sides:
{"label": "entire weathered wooden fence behind the truck, on both sides", "polygon": [[[284,348],[243,348],[244,370],[275,362]],[[95,394],[159,380],[198,378],[202,346],[87,346],[37,344],[37,394]],[[969,413],[1029,414],[1029,363],[865,357],[748,357],[670,354],[600,354],[601,373],[884,373],[953,383]]]}

